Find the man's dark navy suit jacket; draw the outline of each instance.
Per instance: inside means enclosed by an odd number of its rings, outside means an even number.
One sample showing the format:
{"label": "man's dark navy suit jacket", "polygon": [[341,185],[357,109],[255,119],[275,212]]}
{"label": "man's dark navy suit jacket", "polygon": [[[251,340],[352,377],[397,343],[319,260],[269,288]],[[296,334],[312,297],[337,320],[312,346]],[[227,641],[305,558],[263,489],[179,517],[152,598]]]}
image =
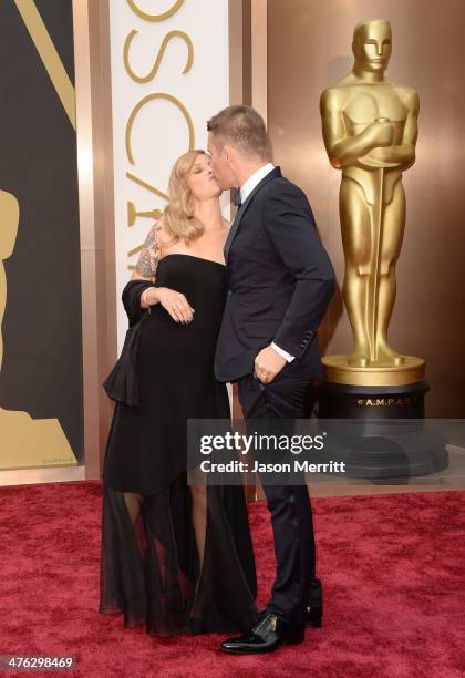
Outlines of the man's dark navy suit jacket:
{"label": "man's dark navy suit jacket", "polygon": [[[228,296],[215,374],[235,381],[275,341],[321,377],[317,329],[334,271],[304,193],[275,167],[239,207],[225,245]],[[308,353],[310,351],[310,353]]]}

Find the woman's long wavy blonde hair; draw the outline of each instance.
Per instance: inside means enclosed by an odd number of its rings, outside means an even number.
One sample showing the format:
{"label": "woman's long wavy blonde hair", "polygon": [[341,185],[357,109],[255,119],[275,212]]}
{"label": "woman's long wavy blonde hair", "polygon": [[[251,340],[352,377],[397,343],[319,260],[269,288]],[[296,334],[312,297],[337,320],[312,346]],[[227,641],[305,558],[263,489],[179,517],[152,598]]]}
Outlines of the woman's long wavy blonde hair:
{"label": "woman's long wavy blonde hair", "polygon": [[195,161],[205,151],[195,148],[177,158],[169,176],[169,202],[163,213],[163,226],[174,239],[186,243],[202,236],[205,226],[194,216],[194,196],[187,184],[187,176]]}

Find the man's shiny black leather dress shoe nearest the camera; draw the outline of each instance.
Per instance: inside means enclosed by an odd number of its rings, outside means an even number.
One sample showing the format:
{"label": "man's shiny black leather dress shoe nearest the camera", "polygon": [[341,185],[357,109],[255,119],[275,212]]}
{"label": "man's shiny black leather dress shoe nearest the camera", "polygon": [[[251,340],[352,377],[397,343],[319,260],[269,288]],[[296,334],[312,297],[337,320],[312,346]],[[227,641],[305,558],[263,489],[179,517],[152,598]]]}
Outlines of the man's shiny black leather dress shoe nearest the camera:
{"label": "man's shiny black leather dress shoe nearest the camera", "polygon": [[302,643],[303,631],[303,626],[288,624],[278,615],[265,612],[247,634],[224,640],[221,649],[232,655],[271,653],[285,644]]}

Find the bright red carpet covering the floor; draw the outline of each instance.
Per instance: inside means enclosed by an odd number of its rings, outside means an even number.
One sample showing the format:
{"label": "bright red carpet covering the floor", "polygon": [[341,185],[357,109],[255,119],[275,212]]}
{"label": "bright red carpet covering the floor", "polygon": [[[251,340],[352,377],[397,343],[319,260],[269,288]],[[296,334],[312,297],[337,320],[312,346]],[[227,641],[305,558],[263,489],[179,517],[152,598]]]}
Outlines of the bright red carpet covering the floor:
{"label": "bright red carpet covering the floor", "polygon": [[[218,636],[157,640],[96,612],[97,481],[0,493],[0,654],[76,655],[69,676],[465,676],[463,493],[314,500],[324,625],[262,657],[225,656]],[[264,602],[275,565],[261,503],[251,523]]]}

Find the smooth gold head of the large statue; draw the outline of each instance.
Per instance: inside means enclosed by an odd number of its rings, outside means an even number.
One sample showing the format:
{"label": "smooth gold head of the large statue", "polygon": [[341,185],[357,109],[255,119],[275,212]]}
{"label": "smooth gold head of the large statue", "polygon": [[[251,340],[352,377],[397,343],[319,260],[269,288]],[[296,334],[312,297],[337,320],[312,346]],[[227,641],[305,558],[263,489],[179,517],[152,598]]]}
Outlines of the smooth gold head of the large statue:
{"label": "smooth gold head of the large statue", "polygon": [[384,73],[391,58],[391,24],[385,19],[365,19],[355,25],[352,51],[355,68],[369,73]]}

